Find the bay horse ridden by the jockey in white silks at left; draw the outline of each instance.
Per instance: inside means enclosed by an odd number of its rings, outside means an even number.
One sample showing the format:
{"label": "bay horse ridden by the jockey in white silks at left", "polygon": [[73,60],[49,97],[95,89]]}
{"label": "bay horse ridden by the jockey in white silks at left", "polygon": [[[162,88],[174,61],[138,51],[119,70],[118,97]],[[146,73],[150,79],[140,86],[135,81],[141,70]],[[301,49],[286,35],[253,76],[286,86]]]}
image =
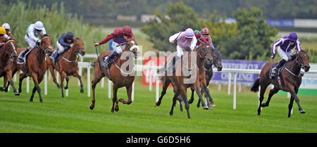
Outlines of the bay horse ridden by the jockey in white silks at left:
{"label": "bay horse ridden by the jockey in white silks at left", "polygon": [[23,71],[23,73],[20,73],[19,77],[19,92],[21,92],[22,81],[23,79],[25,79],[25,77],[32,77],[33,82],[35,84],[32,90],[32,96],[30,97],[30,101],[33,101],[35,91],[37,91],[37,93],[39,94],[39,101],[43,103],[39,83],[42,82],[47,69],[45,63],[45,54],[47,53],[50,56],[53,52],[50,37],[51,34],[41,34],[41,42],[39,43],[39,46],[35,46],[35,48],[32,49],[32,51],[30,51],[29,55],[27,56],[25,65],[17,64],[18,70]]}

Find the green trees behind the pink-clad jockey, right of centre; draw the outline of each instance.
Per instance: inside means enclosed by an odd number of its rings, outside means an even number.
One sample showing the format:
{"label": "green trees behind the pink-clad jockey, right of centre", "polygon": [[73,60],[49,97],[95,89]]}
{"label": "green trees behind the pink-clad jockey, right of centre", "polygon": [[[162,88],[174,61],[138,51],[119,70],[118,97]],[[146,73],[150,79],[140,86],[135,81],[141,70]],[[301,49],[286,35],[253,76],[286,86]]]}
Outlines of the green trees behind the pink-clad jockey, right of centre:
{"label": "green trees behind the pink-clad jockey, right of centre", "polygon": [[[155,13],[160,18],[151,20],[142,27],[142,31],[149,35],[154,48],[159,51],[175,51],[175,45],[171,45],[168,38],[182,30],[191,27],[193,30],[201,30],[208,27],[211,31],[213,44],[222,46],[223,58],[264,60],[271,51],[271,37],[275,37],[278,31],[270,27],[262,17],[259,8],[238,9],[232,13],[237,23],[227,24],[216,21],[221,18],[217,13],[210,15],[209,19],[199,19],[194,9],[185,6],[182,1],[175,5],[170,4],[166,13]],[[169,17],[166,18],[166,15]]]}

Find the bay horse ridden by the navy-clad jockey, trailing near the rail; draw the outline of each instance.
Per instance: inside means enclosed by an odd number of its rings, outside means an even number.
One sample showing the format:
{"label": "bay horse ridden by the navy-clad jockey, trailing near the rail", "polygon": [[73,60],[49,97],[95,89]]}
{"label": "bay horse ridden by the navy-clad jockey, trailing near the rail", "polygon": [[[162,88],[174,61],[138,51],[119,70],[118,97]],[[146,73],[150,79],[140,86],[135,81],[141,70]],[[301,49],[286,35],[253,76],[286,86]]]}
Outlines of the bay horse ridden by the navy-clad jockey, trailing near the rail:
{"label": "bay horse ridden by the navy-clad jockey, trailing near the rail", "polygon": [[[84,49],[84,43],[82,42],[81,38],[75,38],[74,37],[74,45],[72,48],[70,48],[68,51],[65,51],[63,54],[61,54],[61,58],[58,59],[58,66],[53,63],[53,61],[46,57],[46,63],[47,67],[49,68],[49,72],[51,72],[51,75],[53,77],[54,83],[56,84],[58,89],[61,89],[62,97],[64,97],[63,94],[63,85],[64,85],[64,79],[66,79],[66,87],[65,89],[68,89],[68,76],[73,75],[74,77],[77,77],[80,80],[80,93],[84,93],[84,86],[82,84],[82,77],[78,74],[78,62],[77,62],[77,55],[80,53],[81,56],[85,56],[85,49]],[[56,82],[56,77],[54,74],[54,69],[58,70],[59,75],[61,75],[61,87]]]}

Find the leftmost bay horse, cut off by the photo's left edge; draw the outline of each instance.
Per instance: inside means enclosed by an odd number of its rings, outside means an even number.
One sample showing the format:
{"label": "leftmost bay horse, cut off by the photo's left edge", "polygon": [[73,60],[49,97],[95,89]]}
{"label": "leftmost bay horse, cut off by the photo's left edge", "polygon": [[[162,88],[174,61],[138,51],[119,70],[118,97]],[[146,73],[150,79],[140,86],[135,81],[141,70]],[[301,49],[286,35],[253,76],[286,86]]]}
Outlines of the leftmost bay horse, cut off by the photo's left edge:
{"label": "leftmost bay horse, cut off by the photo's left edge", "polygon": [[11,84],[15,96],[19,96],[20,93],[15,89],[12,81],[12,66],[13,60],[18,58],[18,53],[16,52],[16,44],[14,39],[4,39],[6,44],[0,49],[0,77],[4,77],[4,87],[0,87],[0,91],[8,91],[6,83]]}

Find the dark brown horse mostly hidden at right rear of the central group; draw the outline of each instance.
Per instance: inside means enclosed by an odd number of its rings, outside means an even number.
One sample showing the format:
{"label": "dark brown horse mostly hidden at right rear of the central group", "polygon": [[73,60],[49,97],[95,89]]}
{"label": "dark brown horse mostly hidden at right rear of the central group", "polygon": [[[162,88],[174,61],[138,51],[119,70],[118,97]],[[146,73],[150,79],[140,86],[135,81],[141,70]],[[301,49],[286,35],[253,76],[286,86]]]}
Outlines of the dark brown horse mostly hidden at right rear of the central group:
{"label": "dark brown horse mostly hidden at right rear of the central group", "polygon": [[[213,50],[213,62],[211,63],[208,63],[208,62],[205,62],[205,66],[204,66],[204,70],[206,71],[206,75],[205,75],[205,78],[206,78],[206,86],[208,87],[209,85],[209,82],[211,80],[211,78],[213,77],[213,68],[212,68],[212,65],[215,65],[217,70],[218,71],[221,71],[223,69],[223,65],[221,64],[221,53],[220,53],[220,48],[221,46],[219,46],[218,49],[212,49]],[[192,96],[190,97],[188,103],[192,103],[194,101],[194,88],[190,88],[192,90]],[[209,89],[207,89],[209,90]],[[201,91],[201,94],[204,94],[204,91]],[[206,94],[205,94],[205,97],[206,97]],[[212,100],[212,98],[211,98]],[[200,99],[198,99],[198,102],[197,102],[197,107],[199,108],[200,106]],[[211,106],[215,107],[215,103],[213,103],[213,101],[211,101]]]}

